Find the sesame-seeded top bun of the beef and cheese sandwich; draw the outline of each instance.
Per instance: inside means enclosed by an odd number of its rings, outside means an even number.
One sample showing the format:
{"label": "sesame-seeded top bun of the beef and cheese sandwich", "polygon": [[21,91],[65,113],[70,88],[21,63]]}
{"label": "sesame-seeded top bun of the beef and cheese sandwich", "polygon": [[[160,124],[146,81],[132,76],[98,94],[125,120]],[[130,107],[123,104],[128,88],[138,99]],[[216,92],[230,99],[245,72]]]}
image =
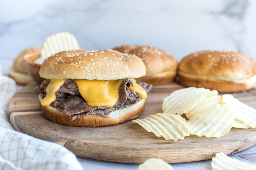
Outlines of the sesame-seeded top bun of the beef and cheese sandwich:
{"label": "sesame-seeded top bun of the beef and cheese sandwich", "polygon": [[146,68],[136,55],[115,50],[69,50],[46,58],[39,74],[45,79],[117,80],[141,77]]}

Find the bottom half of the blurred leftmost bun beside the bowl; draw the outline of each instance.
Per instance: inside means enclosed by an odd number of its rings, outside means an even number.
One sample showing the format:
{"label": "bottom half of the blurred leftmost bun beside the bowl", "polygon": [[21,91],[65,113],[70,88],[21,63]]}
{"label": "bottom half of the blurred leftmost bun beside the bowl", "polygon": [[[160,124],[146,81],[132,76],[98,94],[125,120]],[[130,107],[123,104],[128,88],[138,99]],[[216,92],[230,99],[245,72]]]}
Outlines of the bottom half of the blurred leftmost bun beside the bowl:
{"label": "bottom half of the blurred leftmost bun beside the bowl", "polygon": [[17,84],[28,84],[33,81],[28,73],[17,71],[13,66],[10,68],[9,77],[16,81]]}

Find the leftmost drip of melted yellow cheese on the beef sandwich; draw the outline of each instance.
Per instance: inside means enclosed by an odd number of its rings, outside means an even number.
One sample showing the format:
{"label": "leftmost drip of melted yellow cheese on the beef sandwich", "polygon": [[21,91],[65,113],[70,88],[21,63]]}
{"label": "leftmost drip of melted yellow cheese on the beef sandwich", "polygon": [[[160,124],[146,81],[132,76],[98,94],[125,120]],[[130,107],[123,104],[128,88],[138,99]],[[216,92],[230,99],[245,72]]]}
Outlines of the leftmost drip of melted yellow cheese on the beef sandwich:
{"label": "leftmost drip of melted yellow cheese on the beef sandwich", "polygon": [[[67,79],[52,79],[46,88],[46,96],[41,101],[42,106],[50,105],[56,100],[55,92],[60,89]],[[49,82],[49,81],[48,81]],[[47,83],[47,81],[45,81]]]}

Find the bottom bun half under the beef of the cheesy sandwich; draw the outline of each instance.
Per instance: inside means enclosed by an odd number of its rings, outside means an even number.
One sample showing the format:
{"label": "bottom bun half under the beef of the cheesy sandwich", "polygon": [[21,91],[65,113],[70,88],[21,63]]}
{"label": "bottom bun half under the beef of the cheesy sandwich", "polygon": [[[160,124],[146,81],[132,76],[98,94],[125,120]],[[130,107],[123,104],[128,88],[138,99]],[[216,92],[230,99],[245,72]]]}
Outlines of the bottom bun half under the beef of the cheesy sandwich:
{"label": "bottom bun half under the beef of the cheesy sandwich", "polygon": [[[39,102],[42,101],[43,94],[39,94]],[[71,121],[69,115],[53,108],[50,105],[41,106],[44,117],[52,121],[53,123],[66,124],[69,126],[83,126],[83,127],[101,127],[112,126],[115,124],[122,124],[128,120],[132,120],[141,115],[145,109],[145,99],[141,99],[139,102],[129,104],[126,107],[122,107],[115,111],[110,112],[108,116],[102,117],[99,115],[87,115],[85,117],[76,118]]]}

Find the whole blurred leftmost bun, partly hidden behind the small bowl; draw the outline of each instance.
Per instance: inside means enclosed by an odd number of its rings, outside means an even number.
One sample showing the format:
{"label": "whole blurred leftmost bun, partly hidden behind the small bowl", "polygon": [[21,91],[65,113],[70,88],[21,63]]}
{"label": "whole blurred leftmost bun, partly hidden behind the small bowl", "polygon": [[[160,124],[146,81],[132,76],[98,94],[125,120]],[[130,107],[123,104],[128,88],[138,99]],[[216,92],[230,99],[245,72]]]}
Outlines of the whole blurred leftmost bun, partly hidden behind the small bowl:
{"label": "whole blurred leftmost bun, partly hidden behind the small bowl", "polygon": [[41,47],[31,47],[22,51],[14,60],[13,66],[10,68],[9,76],[18,84],[28,84],[32,82],[32,78],[28,75],[24,67],[23,58],[27,54],[37,53],[41,51]]}

